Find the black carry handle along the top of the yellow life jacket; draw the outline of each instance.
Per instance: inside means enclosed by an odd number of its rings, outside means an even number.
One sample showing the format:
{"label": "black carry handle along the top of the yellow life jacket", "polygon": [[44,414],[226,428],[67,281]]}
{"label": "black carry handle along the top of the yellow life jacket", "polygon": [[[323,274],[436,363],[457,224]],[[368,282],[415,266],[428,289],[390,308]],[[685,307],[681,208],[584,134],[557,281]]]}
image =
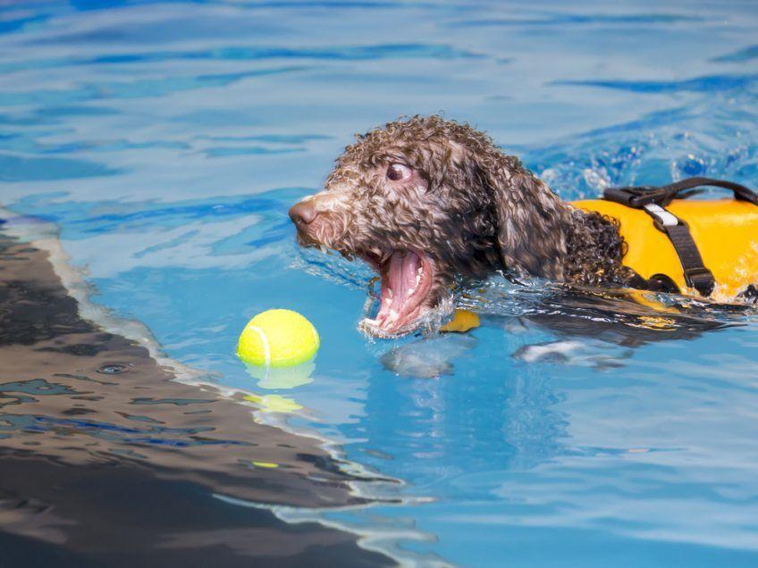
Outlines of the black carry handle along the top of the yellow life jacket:
{"label": "black carry handle along the top of the yellow life jacket", "polygon": [[645,205],[669,205],[679,193],[687,189],[711,186],[714,188],[731,189],[735,199],[758,205],[758,194],[752,189],[734,181],[714,180],[712,178],[686,178],[675,181],[667,186],[627,186],[624,188],[606,188],[602,196],[609,201],[615,201],[627,207],[643,209]]}

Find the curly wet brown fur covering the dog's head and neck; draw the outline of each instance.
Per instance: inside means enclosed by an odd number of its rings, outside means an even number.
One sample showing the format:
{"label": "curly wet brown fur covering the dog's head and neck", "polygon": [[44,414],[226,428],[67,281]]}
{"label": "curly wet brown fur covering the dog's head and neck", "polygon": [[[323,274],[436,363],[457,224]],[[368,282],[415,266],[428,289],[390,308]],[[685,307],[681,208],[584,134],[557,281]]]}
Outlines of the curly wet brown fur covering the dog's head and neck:
{"label": "curly wet brown fur covering the dog's head and neck", "polygon": [[[408,181],[387,178],[407,165]],[[396,251],[434,260],[430,307],[456,278],[509,269],[588,286],[618,285],[618,223],[563,202],[518,158],[465,123],[414,116],[359,135],[336,161],[302,244],[331,247],[375,265]]]}

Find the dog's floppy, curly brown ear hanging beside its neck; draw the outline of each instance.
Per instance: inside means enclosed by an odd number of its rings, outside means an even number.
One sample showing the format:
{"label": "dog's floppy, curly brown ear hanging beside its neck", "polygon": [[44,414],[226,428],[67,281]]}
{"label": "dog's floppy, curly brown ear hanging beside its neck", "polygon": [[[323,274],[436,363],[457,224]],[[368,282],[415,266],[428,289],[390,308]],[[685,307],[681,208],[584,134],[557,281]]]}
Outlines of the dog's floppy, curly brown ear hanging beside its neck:
{"label": "dog's floppy, curly brown ear hanging beside its neck", "polygon": [[502,262],[508,268],[562,280],[569,207],[516,158],[501,158],[480,168],[480,176],[492,198]]}

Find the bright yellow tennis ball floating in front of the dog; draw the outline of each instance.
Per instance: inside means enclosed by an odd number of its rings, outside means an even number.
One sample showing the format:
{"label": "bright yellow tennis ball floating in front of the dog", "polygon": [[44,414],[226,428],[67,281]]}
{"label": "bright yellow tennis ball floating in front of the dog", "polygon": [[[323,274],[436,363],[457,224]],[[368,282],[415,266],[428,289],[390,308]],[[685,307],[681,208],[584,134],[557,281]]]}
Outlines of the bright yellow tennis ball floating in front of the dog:
{"label": "bright yellow tennis ball floating in front of the dog", "polygon": [[318,351],[316,328],[291,310],[266,310],[248,322],[237,342],[245,363],[291,367],[310,360]]}

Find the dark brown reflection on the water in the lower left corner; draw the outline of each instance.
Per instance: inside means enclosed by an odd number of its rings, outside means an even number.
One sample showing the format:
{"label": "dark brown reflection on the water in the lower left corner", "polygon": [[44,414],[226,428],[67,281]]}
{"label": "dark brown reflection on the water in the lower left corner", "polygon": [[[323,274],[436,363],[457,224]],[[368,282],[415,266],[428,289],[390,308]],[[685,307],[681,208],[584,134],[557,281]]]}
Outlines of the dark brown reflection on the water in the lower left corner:
{"label": "dark brown reflection on the water in the lower left corner", "polygon": [[0,234],[0,282],[4,559],[386,564],[350,534],[212,497],[360,503],[316,440],[255,422],[254,397],[178,382],[137,341],[82,319],[42,248]]}

